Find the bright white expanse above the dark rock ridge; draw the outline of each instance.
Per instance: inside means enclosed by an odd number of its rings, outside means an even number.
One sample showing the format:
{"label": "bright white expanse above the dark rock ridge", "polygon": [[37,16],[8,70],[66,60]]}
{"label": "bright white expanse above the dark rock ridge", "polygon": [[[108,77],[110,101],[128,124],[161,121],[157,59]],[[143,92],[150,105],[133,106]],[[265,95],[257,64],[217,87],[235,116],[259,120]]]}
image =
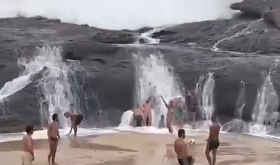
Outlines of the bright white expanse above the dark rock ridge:
{"label": "bright white expanse above the dark rock ridge", "polygon": [[107,29],[136,29],[230,18],[241,0],[2,0],[0,17],[42,15]]}

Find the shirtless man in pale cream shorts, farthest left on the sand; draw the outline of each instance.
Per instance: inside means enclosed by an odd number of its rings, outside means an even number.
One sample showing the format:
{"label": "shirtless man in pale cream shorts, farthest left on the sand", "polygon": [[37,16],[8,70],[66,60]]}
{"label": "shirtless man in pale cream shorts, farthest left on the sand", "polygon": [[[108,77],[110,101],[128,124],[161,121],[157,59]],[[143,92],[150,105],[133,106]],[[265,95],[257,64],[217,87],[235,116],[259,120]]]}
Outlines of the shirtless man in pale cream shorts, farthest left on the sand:
{"label": "shirtless man in pale cream shorts, farthest left on the sand", "polygon": [[33,134],[33,126],[27,125],[25,131],[26,135],[22,139],[22,165],[32,165],[32,161],[34,161],[33,139],[31,137]]}

